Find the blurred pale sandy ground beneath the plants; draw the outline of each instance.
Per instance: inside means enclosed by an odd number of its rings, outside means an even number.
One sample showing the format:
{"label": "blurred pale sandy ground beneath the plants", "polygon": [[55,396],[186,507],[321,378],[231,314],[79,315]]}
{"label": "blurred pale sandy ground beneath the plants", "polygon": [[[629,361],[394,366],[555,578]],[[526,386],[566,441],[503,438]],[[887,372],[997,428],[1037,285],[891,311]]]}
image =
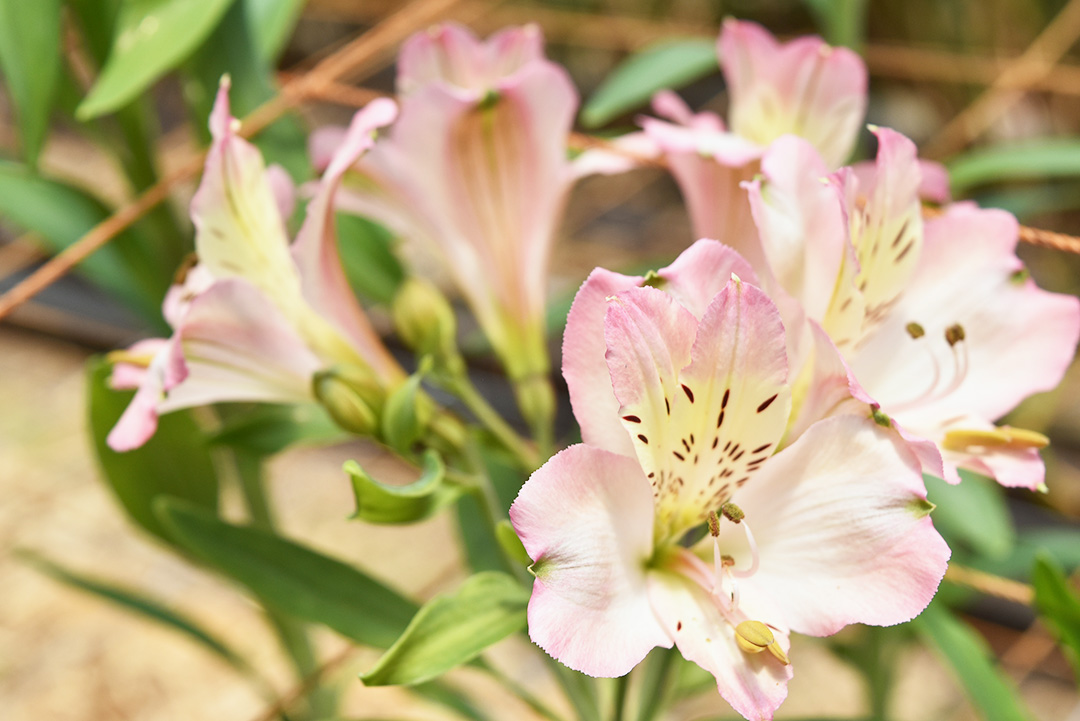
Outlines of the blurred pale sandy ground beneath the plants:
{"label": "blurred pale sandy ground beneath the plants", "polygon": [[[87,355],[62,341],[0,328],[0,717],[255,721],[266,702],[231,668],[175,632],[64,587],[12,555],[15,548],[30,548],[81,572],[146,588],[266,669],[280,693],[292,686],[255,604],[134,530],[96,479],[83,427]],[[275,460],[272,496],[283,509],[284,531],[407,593],[428,596],[453,587],[461,577],[461,559],[447,516],[407,528],[346,519],[352,499],[340,465],[360,458],[369,467],[391,471],[392,461],[356,445],[291,451]],[[324,629],[316,641],[324,658],[348,648]],[[492,654],[508,672],[539,683],[541,694],[550,692],[545,670],[523,641],[511,639]],[[779,718],[851,718],[863,708],[858,676],[818,642],[796,639],[792,655],[798,658],[797,674]],[[333,672],[345,691],[345,716],[449,718],[399,690],[364,689],[355,674],[374,657],[355,652]],[[933,656],[913,651],[904,668],[899,721],[974,718]],[[475,671],[451,679],[492,708],[496,718],[530,718]],[[1040,719],[1077,718],[1070,717],[1076,695],[1067,682],[1034,675],[1024,692]],[[707,694],[671,718],[725,712],[725,704]]]}

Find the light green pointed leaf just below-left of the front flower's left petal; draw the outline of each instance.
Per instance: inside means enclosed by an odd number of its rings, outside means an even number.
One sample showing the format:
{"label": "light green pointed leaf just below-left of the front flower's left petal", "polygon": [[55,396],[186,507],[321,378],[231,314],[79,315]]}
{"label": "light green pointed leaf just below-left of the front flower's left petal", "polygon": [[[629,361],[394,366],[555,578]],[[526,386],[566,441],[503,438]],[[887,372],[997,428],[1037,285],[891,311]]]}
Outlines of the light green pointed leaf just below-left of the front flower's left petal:
{"label": "light green pointed leaf just below-left of the front flower's left petal", "polygon": [[424,603],[402,637],[362,675],[364,683],[420,683],[472,661],[525,628],[529,591],[497,572],[470,576],[457,591]]}

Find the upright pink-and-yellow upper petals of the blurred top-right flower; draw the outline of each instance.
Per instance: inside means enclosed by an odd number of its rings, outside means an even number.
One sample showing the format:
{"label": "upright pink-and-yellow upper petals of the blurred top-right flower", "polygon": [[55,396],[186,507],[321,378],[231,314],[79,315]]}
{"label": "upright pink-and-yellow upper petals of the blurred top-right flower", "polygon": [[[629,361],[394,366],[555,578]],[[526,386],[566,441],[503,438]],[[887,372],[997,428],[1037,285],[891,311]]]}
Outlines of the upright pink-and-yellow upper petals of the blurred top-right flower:
{"label": "upright pink-and-yellow upper petals of the blurred top-right flower", "polygon": [[779,43],[759,25],[728,19],[717,44],[731,130],[766,146],[792,133],[829,167],[847,160],[866,110],[866,66],[820,38]]}

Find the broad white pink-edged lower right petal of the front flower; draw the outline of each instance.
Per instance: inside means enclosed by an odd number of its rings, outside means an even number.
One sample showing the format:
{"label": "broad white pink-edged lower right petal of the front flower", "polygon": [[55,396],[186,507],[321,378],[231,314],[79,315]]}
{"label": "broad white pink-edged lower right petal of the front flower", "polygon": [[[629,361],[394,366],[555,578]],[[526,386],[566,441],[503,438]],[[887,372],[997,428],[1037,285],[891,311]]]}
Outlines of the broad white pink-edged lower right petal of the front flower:
{"label": "broad white pink-edged lower right petal of the front flower", "polygon": [[[760,567],[743,602],[812,636],[909,621],[933,598],[949,548],[934,530],[918,461],[868,418],[809,428],[735,496]],[[742,531],[723,527],[724,542]]]}

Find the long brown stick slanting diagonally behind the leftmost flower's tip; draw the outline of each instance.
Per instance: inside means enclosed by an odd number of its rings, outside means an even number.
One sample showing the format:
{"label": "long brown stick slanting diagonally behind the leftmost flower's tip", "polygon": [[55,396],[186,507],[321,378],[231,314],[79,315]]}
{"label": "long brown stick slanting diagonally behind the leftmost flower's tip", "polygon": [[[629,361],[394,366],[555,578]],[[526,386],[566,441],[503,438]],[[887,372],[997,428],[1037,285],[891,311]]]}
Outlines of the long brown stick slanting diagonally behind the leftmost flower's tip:
{"label": "long brown stick slanting diagonally behind the leftmost flower's tip", "polygon": [[[258,133],[288,109],[300,104],[307,93],[320,92],[325,83],[346,77],[354,77],[354,73],[368,68],[381,56],[392,52],[415,30],[433,23],[459,1],[419,0],[405,5],[369,31],[320,62],[310,72],[296,78],[282,87],[280,94],[256,108],[244,119],[241,134],[251,137]],[[99,222],[22,283],[0,296],[0,321],[18,305],[55,283],[90,254],[104,246],[168,198],[168,193],[176,185],[194,177],[202,167],[204,157],[205,153],[199,153],[189,159],[177,171]]]}

